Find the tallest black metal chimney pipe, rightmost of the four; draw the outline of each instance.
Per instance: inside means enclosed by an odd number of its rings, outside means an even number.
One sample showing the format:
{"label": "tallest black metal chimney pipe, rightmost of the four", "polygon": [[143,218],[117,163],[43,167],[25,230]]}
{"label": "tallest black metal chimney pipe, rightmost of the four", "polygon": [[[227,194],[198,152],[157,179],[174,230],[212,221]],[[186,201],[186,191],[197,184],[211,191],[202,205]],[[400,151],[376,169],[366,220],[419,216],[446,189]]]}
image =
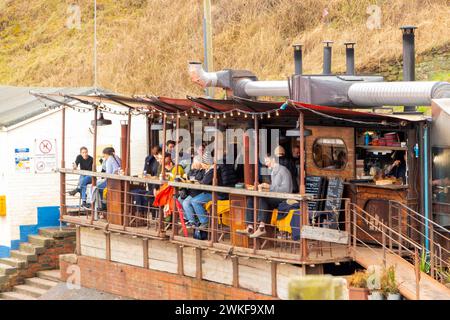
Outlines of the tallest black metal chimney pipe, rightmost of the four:
{"label": "tallest black metal chimney pipe, rightmost of the four", "polygon": [[[414,48],[415,26],[402,26],[403,32],[403,81],[416,80],[416,58]],[[415,111],[416,107],[405,106],[404,111]]]}

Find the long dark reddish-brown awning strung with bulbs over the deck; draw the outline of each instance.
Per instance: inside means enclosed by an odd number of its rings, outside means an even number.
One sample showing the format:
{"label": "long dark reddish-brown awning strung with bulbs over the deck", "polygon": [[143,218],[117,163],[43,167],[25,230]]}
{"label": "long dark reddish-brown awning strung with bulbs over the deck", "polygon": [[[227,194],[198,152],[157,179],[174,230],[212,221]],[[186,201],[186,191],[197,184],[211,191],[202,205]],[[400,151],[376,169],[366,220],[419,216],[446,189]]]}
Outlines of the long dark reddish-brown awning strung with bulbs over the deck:
{"label": "long dark reddish-brown awning strung with bulbs over the deck", "polygon": [[[156,112],[166,115],[188,116],[189,114],[198,114],[205,116],[222,116],[228,114],[233,116],[235,113],[247,114],[252,116],[279,115],[285,117],[298,116],[302,111],[305,119],[317,119],[325,117],[335,121],[348,121],[361,124],[387,124],[398,125],[400,123],[423,121],[424,118],[407,119],[394,115],[377,114],[371,112],[362,112],[342,108],[311,105],[301,102],[287,100],[285,102],[274,101],[254,101],[249,99],[234,97],[230,100],[215,100],[201,97],[186,97],[186,99],[175,99],[169,97],[156,96],[125,96],[118,94],[97,94],[97,95],[72,95],[72,94],[40,94],[42,98],[49,98],[54,101],[57,98],[74,99],[91,106],[116,106],[127,108],[128,110],[150,113]],[[108,111],[105,108],[103,111]]]}

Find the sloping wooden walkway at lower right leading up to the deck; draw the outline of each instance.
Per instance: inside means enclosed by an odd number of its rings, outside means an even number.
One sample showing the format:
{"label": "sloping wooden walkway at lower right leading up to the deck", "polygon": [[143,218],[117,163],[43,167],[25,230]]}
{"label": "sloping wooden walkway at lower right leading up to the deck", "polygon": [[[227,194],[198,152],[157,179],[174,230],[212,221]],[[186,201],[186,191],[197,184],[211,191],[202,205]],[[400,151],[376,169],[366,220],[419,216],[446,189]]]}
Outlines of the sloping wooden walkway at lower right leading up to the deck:
{"label": "sloping wooden walkway at lower right leading up to the deck", "polygon": [[[381,248],[357,247],[354,257],[363,267],[382,264],[383,250]],[[396,266],[397,282],[400,284],[400,293],[409,300],[416,299],[416,280],[414,266],[394,254],[386,254],[387,265]],[[421,272],[420,300],[450,300],[450,289]]]}

